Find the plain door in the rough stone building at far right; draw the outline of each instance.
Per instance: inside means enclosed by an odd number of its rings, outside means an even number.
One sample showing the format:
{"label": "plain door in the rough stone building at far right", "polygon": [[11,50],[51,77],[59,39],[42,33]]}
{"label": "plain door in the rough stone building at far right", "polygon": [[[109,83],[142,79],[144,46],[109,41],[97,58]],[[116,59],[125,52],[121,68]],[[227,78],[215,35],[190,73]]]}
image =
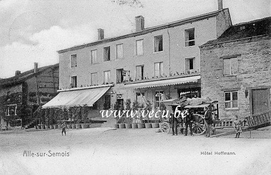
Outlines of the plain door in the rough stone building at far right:
{"label": "plain door in the rough stone building at far right", "polygon": [[268,110],[268,89],[252,89],[252,114]]}

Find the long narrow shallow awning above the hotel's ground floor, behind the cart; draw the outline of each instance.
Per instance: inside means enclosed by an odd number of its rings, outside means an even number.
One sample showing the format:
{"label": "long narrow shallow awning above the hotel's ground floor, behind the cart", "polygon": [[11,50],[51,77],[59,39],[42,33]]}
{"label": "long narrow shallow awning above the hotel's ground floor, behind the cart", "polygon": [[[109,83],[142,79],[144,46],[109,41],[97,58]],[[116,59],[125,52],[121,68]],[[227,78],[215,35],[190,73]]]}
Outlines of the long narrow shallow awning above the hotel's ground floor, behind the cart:
{"label": "long narrow shallow awning above the hotel's ground floor, behind the cart", "polygon": [[153,80],[153,81],[143,81],[143,82],[133,82],[124,85],[124,88],[152,88],[161,87],[168,85],[179,85],[185,83],[197,83],[200,79],[200,75],[190,76],[190,77],[179,77],[179,78],[169,78],[165,80]]}

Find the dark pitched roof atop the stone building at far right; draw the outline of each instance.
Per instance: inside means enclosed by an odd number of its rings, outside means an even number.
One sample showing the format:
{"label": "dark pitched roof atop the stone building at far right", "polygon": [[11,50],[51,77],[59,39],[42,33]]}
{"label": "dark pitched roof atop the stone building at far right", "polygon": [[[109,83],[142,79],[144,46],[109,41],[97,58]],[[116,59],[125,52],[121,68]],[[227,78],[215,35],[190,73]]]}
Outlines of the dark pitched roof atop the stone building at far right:
{"label": "dark pitched roof atop the stone building at far right", "polygon": [[271,17],[235,24],[218,39],[208,41],[200,47],[269,34],[271,34]]}

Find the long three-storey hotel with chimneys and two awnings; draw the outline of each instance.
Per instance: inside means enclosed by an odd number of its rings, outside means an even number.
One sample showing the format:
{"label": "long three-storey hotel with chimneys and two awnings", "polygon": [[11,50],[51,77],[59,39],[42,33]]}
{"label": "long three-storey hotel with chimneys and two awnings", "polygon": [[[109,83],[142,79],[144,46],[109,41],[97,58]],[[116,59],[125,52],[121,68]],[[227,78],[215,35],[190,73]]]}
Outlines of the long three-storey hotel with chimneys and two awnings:
{"label": "long three-storey hotel with chimneys and two awnings", "polygon": [[[117,100],[149,100],[157,106],[180,95],[199,97],[198,46],[232,26],[229,9],[222,7],[222,0],[218,4],[217,11],[155,27],[145,28],[145,18],[136,16],[133,33],[104,38],[104,30],[98,29],[98,41],[59,50],[61,90],[43,107],[87,104],[93,106],[90,117],[104,120],[99,111]],[[80,97],[82,92],[88,98]]]}

